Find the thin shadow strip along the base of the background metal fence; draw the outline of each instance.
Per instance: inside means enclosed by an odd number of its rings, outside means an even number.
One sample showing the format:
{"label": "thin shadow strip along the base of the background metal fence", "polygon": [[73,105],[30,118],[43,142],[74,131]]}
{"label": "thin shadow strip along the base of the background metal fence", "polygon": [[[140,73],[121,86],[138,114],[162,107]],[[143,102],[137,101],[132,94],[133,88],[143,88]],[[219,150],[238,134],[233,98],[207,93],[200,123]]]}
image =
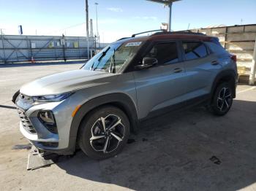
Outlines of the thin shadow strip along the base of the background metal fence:
{"label": "thin shadow strip along the base of the background metal fence", "polygon": [[15,68],[15,67],[24,67],[24,66],[50,66],[50,65],[65,65],[65,64],[78,64],[80,63],[83,66],[83,63],[86,61],[67,61],[67,62],[45,62],[45,63],[0,63],[1,68]]}

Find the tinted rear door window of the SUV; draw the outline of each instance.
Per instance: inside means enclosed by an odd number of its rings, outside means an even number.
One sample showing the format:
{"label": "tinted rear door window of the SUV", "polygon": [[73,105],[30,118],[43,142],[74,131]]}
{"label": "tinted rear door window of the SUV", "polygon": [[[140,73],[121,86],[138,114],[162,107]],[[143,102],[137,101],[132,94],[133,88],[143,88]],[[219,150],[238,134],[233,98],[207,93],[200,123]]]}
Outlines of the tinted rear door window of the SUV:
{"label": "tinted rear door window of the SUV", "polygon": [[202,42],[182,42],[186,60],[203,58],[208,55],[205,44]]}

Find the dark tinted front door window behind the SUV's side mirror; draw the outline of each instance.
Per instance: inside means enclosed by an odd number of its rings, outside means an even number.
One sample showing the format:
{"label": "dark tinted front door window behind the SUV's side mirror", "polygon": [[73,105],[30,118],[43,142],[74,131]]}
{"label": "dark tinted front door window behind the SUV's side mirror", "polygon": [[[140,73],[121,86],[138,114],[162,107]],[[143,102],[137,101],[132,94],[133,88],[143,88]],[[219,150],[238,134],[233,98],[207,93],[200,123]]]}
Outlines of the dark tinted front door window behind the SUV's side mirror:
{"label": "dark tinted front door window behind the SUV's side mirror", "polygon": [[178,62],[176,42],[155,44],[146,57],[157,58],[158,64],[170,64]]}

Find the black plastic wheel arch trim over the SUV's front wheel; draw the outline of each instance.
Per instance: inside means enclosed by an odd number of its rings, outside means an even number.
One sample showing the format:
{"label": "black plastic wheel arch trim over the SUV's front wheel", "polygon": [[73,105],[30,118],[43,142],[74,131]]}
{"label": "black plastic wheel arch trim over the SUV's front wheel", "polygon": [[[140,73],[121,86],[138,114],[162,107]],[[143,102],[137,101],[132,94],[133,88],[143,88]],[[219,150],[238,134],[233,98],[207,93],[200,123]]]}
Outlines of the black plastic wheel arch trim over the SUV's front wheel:
{"label": "black plastic wheel arch trim over the SUV's front wheel", "polygon": [[92,98],[91,100],[86,101],[86,103],[80,107],[78,112],[73,117],[69,132],[68,150],[70,153],[75,152],[80,122],[83,120],[86,114],[89,114],[89,112],[92,109],[95,109],[98,106],[102,106],[105,104],[112,104],[113,106],[121,108],[124,111],[124,113],[127,114],[132,132],[137,132],[138,114],[135,104],[132,101],[132,98],[130,98],[128,95],[124,93],[110,93],[108,95],[101,95],[97,98]]}

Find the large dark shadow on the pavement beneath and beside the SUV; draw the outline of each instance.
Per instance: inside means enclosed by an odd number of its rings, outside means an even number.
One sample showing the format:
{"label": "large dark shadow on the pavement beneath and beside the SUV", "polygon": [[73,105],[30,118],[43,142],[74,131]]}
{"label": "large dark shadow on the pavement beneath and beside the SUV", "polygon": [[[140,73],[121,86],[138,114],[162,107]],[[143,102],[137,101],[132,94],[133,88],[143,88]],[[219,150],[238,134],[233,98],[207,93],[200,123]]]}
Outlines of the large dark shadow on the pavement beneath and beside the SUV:
{"label": "large dark shadow on the pavement beneath and beside the SUV", "polygon": [[78,152],[57,165],[132,190],[238,190],[256,182],[255,108],[235,100],[225,117],[204,108],[165,114],[143,122],[116,157],[94,161]]}

